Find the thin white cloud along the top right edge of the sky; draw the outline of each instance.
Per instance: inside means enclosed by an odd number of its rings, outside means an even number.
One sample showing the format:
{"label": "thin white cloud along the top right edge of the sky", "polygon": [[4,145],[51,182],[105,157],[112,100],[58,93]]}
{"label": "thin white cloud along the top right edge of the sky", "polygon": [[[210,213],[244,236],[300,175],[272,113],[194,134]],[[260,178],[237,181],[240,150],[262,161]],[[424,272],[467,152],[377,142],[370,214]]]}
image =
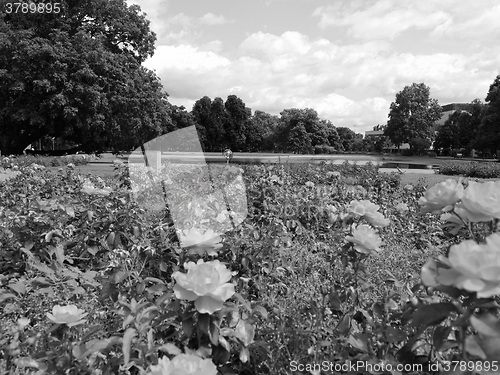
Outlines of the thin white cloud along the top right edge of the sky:
{"label": "thin white cloud along the top right edge of the sky", "polygon": [[394,39],[412,28],[458,41],[500,35],[497,0],[340,0],[316,8],[312,15],[320,28],[343,28],[365,40]]}

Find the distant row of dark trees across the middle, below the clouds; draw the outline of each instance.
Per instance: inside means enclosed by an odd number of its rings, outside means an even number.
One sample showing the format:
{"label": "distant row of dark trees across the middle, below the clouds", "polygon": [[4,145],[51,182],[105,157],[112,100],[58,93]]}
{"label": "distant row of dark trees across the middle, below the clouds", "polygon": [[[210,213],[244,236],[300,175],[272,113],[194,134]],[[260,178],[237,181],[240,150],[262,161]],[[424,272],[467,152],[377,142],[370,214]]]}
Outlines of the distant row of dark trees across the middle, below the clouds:
{"label": "distant row of dark trees across the middle, below the clouds", "polygon": [[[230,148],[242,152],[336,153],[363,151],[363,135],[346,127],[335,127],[310,108],[285,109],[279,116],[246,107],[242,99],[229,95],[197,100],[190,112],[171,106],[174,129],[196,126],[203,150]],[[180,121],[179,121],[180,120]]]}

